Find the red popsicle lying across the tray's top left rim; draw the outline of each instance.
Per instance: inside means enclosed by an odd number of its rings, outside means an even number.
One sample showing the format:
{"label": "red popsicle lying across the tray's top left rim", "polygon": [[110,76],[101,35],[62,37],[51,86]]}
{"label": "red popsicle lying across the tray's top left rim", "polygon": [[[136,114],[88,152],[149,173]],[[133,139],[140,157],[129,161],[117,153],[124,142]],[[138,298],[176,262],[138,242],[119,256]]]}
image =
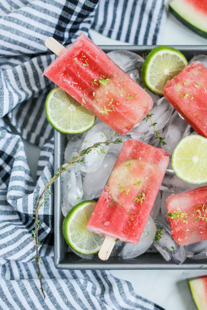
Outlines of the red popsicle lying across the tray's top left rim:
{"label": "red popsicle lying across the tray's top left rim", "polygon": [[57,54],[43,75],[117,133],[126,134],[152,108],[151,96],[83,33],[65,50],[57,43]]}

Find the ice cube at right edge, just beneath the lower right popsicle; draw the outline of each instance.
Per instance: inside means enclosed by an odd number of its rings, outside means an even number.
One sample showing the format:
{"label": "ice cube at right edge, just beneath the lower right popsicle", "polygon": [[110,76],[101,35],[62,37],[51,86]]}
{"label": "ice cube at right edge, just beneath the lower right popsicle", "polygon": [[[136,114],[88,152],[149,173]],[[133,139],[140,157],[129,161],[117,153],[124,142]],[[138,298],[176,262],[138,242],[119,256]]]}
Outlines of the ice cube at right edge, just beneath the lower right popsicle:
{"label": "ice cube at right edge, just beneath the lower right popsicle", "polygon": [[207,258],[207,240],[188,244],[186,246],[187,257],[192,259]]}

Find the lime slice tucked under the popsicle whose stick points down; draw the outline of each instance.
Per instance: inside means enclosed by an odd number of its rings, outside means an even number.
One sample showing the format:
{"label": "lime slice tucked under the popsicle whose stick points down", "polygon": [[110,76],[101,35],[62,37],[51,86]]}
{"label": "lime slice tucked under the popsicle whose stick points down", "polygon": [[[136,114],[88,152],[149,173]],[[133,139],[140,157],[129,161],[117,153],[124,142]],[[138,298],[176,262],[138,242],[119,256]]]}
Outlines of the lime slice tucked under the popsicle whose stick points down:
{"label": "lime slice tucked under the popsicle whose stick points down", "polygon": [[65,241],[71,248],[82,254],[97,253],[104,241],[104,237],[86,229],[95,206],[96,201],[82,201],[68,212],[63,221]]}

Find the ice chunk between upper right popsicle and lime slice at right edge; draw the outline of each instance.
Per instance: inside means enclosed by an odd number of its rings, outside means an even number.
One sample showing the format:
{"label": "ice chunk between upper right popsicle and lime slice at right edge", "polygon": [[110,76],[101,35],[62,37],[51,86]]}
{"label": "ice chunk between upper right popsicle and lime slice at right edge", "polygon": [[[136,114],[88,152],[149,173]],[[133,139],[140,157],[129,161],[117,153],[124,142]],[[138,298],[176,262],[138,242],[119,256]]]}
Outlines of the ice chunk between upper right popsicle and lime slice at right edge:
{"label": "ice chunk between upper right popsicle and lime slice at right edge", "polygon": [[181,120],[178,116],[178,112],[174,111],[162,133],[166,145],[161,145],[161,147],[165,152],[168,152],[169,155],[172,155],[178,142],[183,137],[189,135],[190,130],[191,126],[185,120]]}

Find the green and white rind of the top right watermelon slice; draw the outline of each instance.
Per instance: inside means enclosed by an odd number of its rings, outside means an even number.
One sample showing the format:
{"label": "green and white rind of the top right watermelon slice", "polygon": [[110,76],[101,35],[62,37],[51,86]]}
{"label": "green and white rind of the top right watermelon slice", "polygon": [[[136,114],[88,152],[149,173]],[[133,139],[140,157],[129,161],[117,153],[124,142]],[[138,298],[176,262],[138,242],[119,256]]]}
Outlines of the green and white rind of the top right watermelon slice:
{"label": "green and white rind of the top right watermelon slice", "polygon": [[194,12],[194,16],[189,14],[190,5],[186,3],[185,7],[183,7],[184,2],[182,0],[174,0],[169,4],[169,11],[185,26],[199,34],[200,36],[207,38],[207,19],[202,20],[202,15],[196,17],[196,12]]}

